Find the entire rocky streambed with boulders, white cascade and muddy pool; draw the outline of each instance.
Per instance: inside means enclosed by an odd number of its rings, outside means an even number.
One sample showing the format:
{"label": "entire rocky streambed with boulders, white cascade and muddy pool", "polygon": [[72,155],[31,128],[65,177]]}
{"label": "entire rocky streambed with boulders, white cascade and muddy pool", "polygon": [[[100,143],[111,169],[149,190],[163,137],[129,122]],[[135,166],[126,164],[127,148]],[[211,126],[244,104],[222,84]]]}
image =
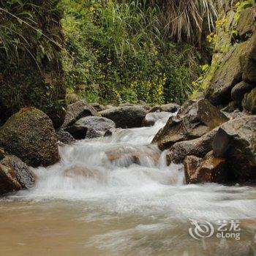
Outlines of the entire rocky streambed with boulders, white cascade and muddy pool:
{"label": "entire rocky streambed with boulders, white cascade and muddy pool", "polygon": [[[0,129],[0,253],[255,253],[255,129],[255,116],[207,99],[75,102],[57,130],[22,109]],[[191,219],[238,220],[241,239],[197,241]]]}

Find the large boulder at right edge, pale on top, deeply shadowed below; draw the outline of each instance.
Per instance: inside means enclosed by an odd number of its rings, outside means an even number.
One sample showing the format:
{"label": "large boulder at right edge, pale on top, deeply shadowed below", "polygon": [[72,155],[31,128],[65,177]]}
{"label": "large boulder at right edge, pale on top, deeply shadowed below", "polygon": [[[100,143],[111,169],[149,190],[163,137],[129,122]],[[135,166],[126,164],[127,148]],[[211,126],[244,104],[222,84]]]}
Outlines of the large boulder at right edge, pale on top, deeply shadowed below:
{"label": "large boulder at right edge, pale on top, deeply shadowed below", "polygon": [[219,127],[213,140],[215,157],[227,159],[238,181],[256,178],[256,116],[236,118]]}

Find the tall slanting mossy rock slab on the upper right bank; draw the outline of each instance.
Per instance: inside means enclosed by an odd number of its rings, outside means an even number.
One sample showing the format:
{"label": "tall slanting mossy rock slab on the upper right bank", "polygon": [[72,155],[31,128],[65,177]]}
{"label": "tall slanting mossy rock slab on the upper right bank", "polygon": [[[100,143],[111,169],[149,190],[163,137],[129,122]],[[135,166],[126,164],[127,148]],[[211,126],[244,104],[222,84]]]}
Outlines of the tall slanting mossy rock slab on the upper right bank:
{"label": "tall slanting mossy rock slab on the upper right bank", "polygon": [[240,57],[248,50],[248,47],[249,42],[234,45],[214,73],[214,78],[206,90],[206,99],[214,105],[222,105],[231,101],[233,86],[242,80]]}

